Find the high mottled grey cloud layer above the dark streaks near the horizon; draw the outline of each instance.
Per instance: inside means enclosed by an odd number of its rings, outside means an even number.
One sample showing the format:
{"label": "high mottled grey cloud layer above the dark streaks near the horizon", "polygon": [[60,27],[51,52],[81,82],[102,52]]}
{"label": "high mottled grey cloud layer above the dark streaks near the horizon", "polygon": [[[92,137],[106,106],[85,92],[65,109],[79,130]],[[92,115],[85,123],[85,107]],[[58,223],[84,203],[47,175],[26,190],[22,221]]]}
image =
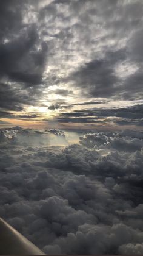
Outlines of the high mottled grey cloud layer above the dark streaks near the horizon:
{"label": "high mottled grey cloud layer above the dark streaks near the horizon", "polygon": [[[142,6],[111,0],[2,3],[2,110],[21,111],[48,100],[49,110],[84,105],[50,100],[54,93],[67,102],[77,89],[79,99],[142,99]],[[42,92],[52,85],[57,88],[47,98]],[[87,105],[94,101],[100,104],[93,99]]]}

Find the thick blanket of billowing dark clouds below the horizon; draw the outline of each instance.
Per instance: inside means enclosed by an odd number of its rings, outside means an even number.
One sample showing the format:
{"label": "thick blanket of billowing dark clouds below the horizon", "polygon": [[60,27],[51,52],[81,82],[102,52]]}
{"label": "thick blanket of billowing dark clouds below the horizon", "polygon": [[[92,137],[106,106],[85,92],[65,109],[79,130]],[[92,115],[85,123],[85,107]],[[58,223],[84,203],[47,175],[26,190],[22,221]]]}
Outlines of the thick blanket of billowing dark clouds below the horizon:
{"label": "thick blanket of billowing dark clouds below the horizon", "polygon": [[32,147],[32,130],[2,131],[0,214],[13,227],[47,254],[142,255],[141,132],[88,133],[53,149]]}

